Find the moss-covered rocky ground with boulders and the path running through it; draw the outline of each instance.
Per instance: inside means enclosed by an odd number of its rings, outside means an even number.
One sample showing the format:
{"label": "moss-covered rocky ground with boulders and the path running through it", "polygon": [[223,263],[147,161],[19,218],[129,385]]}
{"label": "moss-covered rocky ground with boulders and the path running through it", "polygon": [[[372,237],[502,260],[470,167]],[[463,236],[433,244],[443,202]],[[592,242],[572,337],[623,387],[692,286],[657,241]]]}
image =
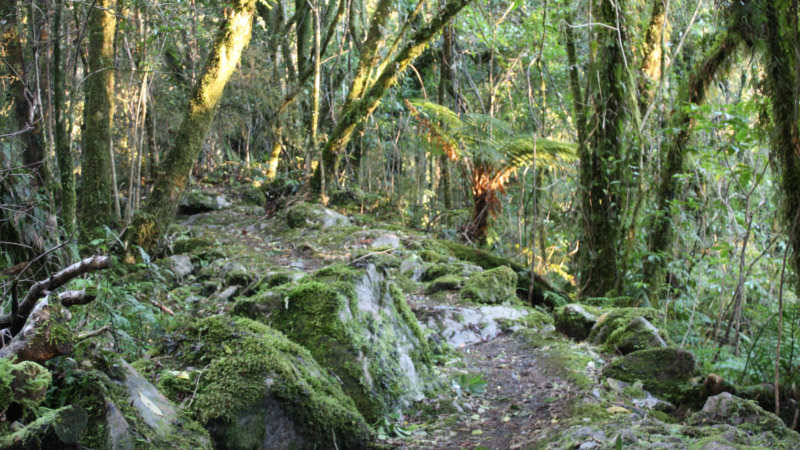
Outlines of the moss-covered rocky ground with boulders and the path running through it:
{"label": "moss-covered rocky ground with boulders and the path running through it", "polygon": [[319,205],[196,197],[147,272],[176,326],[131,365],[80,363],[88,447],[800,448],[709,390],[658,311],[531,308],[500,258]]}

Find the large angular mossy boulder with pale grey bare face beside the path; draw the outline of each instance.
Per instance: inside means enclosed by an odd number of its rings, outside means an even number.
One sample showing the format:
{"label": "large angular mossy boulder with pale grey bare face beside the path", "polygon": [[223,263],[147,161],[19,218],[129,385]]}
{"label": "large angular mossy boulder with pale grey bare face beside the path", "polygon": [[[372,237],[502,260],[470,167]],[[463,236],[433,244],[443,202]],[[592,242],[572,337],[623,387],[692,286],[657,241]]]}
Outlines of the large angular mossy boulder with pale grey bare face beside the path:
{"label": "large angular mossy boulder with pale grey bare face beside the path", "polygon": [[423,398],[432,378],[426,336],[403,292],[375,265],[329,266],[261,300],[278,307],[250,301],[237,310],[272,311],[260,320],[308,348],[368,420]]}

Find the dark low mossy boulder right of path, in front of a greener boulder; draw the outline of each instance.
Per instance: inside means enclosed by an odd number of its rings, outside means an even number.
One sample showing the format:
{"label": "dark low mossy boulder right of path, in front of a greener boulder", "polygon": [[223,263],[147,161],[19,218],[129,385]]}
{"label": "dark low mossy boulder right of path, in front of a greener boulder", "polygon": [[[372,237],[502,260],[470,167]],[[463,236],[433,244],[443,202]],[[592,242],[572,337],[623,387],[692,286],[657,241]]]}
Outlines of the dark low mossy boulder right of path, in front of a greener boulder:
{"label": "dark low mossy boulder right of path, in front of a greener boulder", "polygon": [[646,390],[676,405],[696,400],[702,389],[691,382],[697,375],[694,356],[679,348],[629,353],[607,365],[603,375],[631,383],[641,381]]}

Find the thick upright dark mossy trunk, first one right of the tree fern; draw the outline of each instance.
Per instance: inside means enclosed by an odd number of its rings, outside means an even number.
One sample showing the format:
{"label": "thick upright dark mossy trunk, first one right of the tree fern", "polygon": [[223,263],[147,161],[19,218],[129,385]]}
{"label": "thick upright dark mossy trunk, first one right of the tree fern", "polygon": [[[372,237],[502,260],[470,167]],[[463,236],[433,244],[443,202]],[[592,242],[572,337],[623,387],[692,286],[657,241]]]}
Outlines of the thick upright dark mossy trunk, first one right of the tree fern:
{"label": "thick upright dark mossy trunk, first one right of the tree fern", "polygon": [[[616,8],[619,8],[617,10]],[[620,181],[624,160],[623,129],[627,118],[624,101],[625,60],[620,1],[603,0],[597,18],[613,29],[595,28],[594,63],[587,74],[591,123],[586,145],[579,148],[582,190],[582,239],[579,253],[583,295],[597,297],[619,288],[617,273],[620,241]]]}

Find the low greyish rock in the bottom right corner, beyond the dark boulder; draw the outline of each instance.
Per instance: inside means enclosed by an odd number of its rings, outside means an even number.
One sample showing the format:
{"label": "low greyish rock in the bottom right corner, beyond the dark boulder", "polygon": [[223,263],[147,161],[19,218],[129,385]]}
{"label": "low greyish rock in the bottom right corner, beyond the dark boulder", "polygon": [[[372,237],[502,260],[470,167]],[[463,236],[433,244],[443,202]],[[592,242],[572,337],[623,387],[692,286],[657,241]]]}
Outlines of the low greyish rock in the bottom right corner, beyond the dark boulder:
{"label": "low greyish rock in the bottom right corner, beyond the dark boulder", "polygon": [[780,436],[791,431],[786,428],[780,417],[765,411],[752,400],[745,400],[729,392],[709,397],[703,409],[689,418],[689,423],[692,425],[724,423],[752,433],[771,431]]}

